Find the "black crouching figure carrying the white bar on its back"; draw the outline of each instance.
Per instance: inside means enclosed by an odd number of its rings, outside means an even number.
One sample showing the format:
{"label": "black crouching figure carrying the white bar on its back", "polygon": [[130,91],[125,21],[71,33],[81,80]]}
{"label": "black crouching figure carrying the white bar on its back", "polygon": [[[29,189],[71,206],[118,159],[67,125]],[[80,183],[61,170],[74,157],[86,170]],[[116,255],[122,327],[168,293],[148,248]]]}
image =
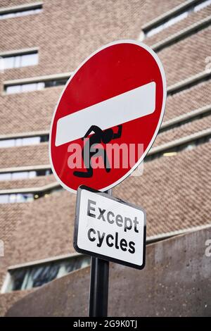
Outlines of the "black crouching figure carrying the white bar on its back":
{"label": "black crouching figure carrying the white bar on its back", "polygon": [[122,135],[122,125],[117,125],[118,131],[117,133],[113,132],[113,129],[107,129],[105,131],[101,130],[100,127],[96,125],[91,125],[89,127],[89,130],[87,131],[86,135],[82,138],[87,138],[91,132],[94,132],[94,135],[92,135],[88,140],[87,143],[84,145],[84,148],[82,149],[82,158],[84,161],[84,165],[87,168],[87,172],[84,171],[74,171],[73,175],[77,177],[92,177],[93,175],[93,168],[91,166],[91,158],[94,155],[102,156],[104,161],[104,166],[106,169],[106,172],[110,172],[110,165],[108,161],[108,156],[106,154],[106,149],[92,149],[97,144],[100,144],[103,142],[103,144],[108,144],[113,139],[120,138]]}

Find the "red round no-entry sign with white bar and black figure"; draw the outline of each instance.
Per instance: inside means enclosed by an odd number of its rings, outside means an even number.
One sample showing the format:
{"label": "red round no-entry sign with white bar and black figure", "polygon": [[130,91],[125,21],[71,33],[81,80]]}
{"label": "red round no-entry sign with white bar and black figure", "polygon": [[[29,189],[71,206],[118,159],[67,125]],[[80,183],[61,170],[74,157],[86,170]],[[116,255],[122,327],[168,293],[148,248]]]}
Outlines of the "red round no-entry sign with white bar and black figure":
{"label": "red round no-entry sign with white bar and black figure", "polygon": [[158,134],[166,81],[150,47],[113,42],[87,58],[68,80],[53,114],[49,156],[70,192],[105,191],[141,163]]}

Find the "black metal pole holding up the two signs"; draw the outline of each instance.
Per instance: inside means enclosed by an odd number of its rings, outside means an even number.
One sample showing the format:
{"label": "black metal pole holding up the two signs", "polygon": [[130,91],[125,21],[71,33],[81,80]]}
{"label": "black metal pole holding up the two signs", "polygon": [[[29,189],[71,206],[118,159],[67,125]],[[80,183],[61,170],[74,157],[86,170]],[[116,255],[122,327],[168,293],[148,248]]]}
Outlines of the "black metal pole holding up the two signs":
{"label": "black metal pole holding up the two signs", "polygon": [[[111,189],[106,193],[112,195]],[[101,258],[91,258],[89,292],[89,317],[108,315],[108,275],[109,262]]]}

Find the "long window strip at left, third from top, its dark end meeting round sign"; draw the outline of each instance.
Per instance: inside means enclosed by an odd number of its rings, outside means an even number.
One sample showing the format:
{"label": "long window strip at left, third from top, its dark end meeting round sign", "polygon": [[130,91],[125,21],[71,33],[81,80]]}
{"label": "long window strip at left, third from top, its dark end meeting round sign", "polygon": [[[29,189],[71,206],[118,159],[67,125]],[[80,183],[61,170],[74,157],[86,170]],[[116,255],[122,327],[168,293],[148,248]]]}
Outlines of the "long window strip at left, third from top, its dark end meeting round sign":
{"label": "long window strip at left, third from top, its dark end meeting round sign", "polygon": [[21,85],[6,85],[4,86],[4,91],[6,92],[6,94],[38,91],[40,89],[45,89],[46,87],[56,87],[60,85],[65,85],[66,82],[67,79],[58,79],[58,80],[46,80],[44,82],[25,83]]}

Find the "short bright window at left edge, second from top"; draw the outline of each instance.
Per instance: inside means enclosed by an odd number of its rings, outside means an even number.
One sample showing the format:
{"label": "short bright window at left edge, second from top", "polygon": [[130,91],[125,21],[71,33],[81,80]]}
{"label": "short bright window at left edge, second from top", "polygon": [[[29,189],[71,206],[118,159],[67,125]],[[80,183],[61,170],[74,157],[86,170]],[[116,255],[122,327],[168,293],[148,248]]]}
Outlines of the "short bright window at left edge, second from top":
{"label": "short bright window at left edge, second from top", "polygon": [[34,51],[30,54],[16,54],[1,56],[3,58],[3,68],[4,69],[13,69],[27,67],[28,65],[37,65],[38,64],[38,52]]}

